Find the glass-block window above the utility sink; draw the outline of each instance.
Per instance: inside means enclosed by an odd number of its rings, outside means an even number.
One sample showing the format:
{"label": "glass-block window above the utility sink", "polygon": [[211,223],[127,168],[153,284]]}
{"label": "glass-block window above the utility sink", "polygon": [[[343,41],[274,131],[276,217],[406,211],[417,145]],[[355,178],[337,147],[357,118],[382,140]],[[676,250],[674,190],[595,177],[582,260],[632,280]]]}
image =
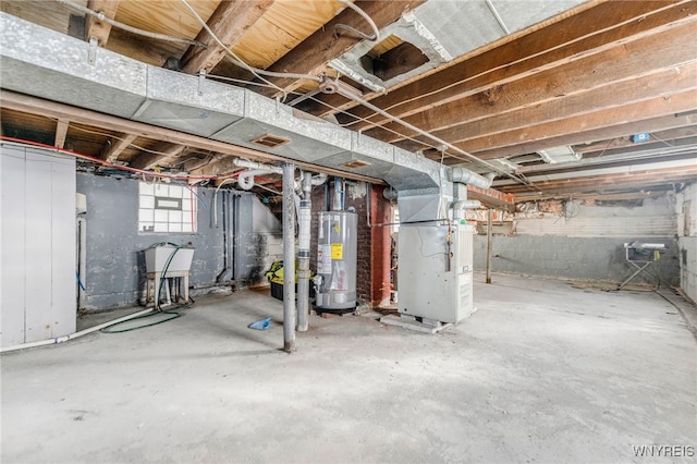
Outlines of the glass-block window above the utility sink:
{"label": "glass-block window above the utility sink", "polygon": [[195,233],[194,199],[182,185],[138,182],[138,232]]}

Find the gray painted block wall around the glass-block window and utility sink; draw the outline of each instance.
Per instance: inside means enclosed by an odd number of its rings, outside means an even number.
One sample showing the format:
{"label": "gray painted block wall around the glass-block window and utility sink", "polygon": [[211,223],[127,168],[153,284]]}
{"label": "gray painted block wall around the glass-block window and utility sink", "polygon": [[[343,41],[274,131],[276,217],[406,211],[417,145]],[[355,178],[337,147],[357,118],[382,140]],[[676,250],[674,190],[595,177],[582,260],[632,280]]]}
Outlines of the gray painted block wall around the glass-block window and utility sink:
{"label": "gray painted block wall around the glass-block window and utility sink", "polygon": [[[198,187],[206,204],[197,205],[197,232],[194,234],[161,234],[138,232],[138,182],[118,176],[77,173],[77,192],[87,197],[87,272],[84,276],[86,310],[99,310],[137,304],[146,282],[143,251],[154,243],[191,243],[195,247],[189,284],[206,289],[217,284],[223,270],[222,205],[217,203],[218,227],[212,220],[215,190]],[[273,231],[270,211],[256,213],[262,224],[254,223],[255,204],[250,193],[239,192],[239,233],[234,278],[243,285],[264,279],[268,259],[277,257],[276,242],[281,233]],[[265,208],[265,207],[262,207]],[[232,209],[232,207],[231,207]],[[232,213],[233,211],[231,211]],[[271,249],[271,253],[269,253]]]}

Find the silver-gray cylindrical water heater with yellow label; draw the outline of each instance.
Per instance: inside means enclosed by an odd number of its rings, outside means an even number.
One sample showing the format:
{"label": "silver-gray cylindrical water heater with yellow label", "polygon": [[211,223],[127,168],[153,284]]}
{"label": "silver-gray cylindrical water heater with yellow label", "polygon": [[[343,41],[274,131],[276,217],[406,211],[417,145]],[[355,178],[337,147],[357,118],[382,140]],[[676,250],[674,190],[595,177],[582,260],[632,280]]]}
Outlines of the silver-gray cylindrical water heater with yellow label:
{"label": "silver-gray cylindrical water heater with yellow label", "polygon": [[323,313],[356,308],[357,218],[351,211],[319,213],[315,306]]}

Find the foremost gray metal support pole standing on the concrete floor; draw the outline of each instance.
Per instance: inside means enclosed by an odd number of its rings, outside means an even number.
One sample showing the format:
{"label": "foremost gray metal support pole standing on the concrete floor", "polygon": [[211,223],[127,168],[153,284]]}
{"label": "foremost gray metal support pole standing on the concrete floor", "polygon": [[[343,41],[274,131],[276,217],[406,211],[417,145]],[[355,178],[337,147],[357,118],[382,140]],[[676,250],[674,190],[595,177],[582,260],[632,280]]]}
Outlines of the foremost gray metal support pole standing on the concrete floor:
{"label": "foremost gray metal support pole standing on the concrete floor", "polygon": [[295,164],[283,164],[283,350],[295,351]]}

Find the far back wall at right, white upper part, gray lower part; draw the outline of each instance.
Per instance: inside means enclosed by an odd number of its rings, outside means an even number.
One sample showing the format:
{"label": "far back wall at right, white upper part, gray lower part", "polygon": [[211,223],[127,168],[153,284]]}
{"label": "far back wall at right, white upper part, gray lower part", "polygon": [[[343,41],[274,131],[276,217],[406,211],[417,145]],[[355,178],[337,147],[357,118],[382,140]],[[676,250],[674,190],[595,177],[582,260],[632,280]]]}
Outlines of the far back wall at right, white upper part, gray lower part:
{"label": "far back wall at right, white upper part, gray lower part", "polygon": [[[492,270],[533,276],[622,282],[636,268],[624,243],[664,243],[665,254],[632,282],[680,285],[675,197],[641,206],[578,205],[568,217],[516,213],[514,233],[492,237]],[[475,269],[486,267],[486,235],[475,236]]]}

